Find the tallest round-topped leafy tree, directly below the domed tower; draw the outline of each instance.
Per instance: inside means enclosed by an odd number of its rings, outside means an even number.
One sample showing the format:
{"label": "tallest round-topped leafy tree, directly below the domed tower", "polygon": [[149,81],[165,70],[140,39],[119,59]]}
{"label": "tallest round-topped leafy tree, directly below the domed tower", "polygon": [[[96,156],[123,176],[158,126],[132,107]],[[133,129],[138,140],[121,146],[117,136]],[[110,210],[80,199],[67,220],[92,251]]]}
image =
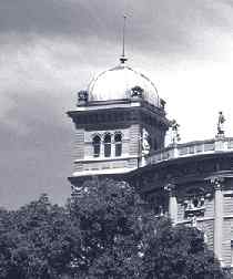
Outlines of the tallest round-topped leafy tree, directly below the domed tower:
{"label": "tallest round-topped leafy tree, directly below the domed tower", "polygon": [[[142,200],[126,183],[93,179],[74,195],[88,278],[138,278]],[[81,264],[79,265],[81,267]]]}

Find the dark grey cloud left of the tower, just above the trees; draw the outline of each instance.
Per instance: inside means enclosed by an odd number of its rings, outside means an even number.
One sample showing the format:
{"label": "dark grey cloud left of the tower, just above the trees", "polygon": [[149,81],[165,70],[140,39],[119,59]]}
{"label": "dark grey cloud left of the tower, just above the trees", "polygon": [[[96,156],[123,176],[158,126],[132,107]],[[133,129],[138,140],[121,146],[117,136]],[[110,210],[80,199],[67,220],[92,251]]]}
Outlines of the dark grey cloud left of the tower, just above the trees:
{"label": "dark grey cloud left of the tower, just above the trees", "polygon": [[[16,96],[20,105],[8,113],[18,121],[14,128],[1,123],[0,204],[17,208],[48,193],[52,202],[64,204],[70,196],[72,127],[39,97]],[[23,125],[23,127],[21,126]],[[19,133],[17,130],[23,130]]]}

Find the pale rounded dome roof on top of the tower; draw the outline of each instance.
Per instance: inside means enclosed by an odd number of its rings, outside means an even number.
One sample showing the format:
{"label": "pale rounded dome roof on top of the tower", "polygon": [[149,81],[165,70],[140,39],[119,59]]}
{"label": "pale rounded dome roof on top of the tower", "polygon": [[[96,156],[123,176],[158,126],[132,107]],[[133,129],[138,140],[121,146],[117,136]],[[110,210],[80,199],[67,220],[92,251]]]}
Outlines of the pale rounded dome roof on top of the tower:
{"label": "pale rounded dome roof on top of the tower", "polygon": [[161,106],[153,82],[124,64],[104,71],[91,81],[88,87],[89,101],[130,99],[132,89],[140,90],[141,97],[150,104]]}

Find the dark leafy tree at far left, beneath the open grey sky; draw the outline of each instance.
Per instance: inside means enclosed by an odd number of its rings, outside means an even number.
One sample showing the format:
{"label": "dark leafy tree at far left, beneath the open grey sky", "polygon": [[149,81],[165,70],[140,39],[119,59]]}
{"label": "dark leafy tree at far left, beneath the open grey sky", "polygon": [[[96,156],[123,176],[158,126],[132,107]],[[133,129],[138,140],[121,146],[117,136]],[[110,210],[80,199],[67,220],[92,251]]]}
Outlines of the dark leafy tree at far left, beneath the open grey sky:
{"label": "dark leafy tree at far left, beneath the open grey sky", "polygon": [[79,244],[79,229],[68,211],[51,205],[45,195],[19,210],[2,210],[0,278],[59,278],[71,272]]}

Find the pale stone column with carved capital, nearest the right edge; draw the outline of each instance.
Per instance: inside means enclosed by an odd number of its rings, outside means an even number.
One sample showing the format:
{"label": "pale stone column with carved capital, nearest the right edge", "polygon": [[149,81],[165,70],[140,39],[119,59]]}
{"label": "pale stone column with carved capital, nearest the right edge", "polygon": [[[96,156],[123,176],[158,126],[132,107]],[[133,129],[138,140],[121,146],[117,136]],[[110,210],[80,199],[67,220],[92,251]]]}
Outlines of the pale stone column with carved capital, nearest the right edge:
{"label": "pale stone column with carved capital, nearest the right edge", "polygon": [[214,186],[214,254],[222,262],[222,237],[223,237],[223,178],[213,178]]}

